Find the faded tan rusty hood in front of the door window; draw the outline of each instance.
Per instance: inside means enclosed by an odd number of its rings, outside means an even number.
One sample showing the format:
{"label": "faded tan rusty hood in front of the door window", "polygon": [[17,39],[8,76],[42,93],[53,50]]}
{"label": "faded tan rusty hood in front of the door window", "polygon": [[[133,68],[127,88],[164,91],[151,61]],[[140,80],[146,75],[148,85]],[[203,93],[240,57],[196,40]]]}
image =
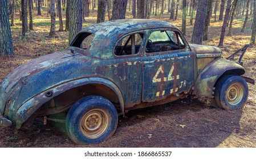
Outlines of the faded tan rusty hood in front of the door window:
{"label": "faded tan rusty hood in front of the door window", "polygon": [[222,51],[218,47],[212,47],[208,45],[189,44],[197,55],[216,54],[221,56]]}

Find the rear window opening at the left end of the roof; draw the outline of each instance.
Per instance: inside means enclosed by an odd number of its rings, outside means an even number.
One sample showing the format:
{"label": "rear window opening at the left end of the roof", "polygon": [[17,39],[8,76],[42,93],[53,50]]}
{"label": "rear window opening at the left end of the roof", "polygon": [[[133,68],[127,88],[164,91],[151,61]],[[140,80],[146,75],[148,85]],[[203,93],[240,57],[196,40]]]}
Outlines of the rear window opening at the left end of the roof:
{"label": "rear window opening at the left end of the roof", "polygon": [[88,47],[90,47],[92,40],[94,40],[94,34],[90,32],[83,32],[78,35],[73,43],[71,43],[71,46],[87,49]]}

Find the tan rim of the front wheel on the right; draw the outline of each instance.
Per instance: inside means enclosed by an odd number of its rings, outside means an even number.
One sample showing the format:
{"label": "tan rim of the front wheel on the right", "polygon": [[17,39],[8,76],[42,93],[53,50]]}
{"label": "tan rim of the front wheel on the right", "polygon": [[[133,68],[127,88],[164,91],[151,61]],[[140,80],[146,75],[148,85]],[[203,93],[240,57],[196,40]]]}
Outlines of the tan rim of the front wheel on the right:
{"label": "tan rim of the front wheel on the right", "polygon": [[235,106],[242,101],[243,98],[243,87],[239,83],[233,83],[227,89],[226,98],[229,104]]}

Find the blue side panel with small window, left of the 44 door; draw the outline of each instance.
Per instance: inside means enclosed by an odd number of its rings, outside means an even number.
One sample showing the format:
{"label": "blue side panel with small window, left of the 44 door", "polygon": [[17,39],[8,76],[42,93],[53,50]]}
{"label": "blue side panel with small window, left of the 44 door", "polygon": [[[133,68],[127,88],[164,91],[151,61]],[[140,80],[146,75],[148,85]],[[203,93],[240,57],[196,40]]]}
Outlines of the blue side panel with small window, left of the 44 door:
{"label": "blue side panel with small window, left of the 44 door", "polygon": [[111,74],[115,78],[113,81],[121,89],[126,108],[141,102],[141,52],[145,41],[144,34],[142,30],[121,36],[113,52],[118,64],[111,67]]}

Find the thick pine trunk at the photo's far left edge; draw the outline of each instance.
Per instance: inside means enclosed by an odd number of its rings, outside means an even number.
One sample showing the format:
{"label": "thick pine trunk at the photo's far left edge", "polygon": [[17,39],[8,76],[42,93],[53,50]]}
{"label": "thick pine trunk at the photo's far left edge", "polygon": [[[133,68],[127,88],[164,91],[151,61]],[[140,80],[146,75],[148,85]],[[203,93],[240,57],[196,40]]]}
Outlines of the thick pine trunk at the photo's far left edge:
{"label": "thick pine trunk at the photo's far left edge", "polygon": [[11,56],[13,55],[13,41],[11,39],[8,0],[1,0],[0,15],[0,55]]}

